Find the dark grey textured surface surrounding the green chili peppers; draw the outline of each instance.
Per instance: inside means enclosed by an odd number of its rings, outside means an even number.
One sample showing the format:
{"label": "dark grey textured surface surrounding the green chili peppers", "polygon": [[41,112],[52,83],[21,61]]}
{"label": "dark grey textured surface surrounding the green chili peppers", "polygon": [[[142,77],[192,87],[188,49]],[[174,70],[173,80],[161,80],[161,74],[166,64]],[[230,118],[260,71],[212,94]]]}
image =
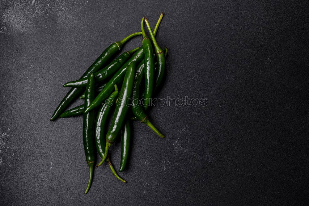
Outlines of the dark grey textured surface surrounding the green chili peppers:
{"label": "dark grey textured surface surrounding the green chili peppers", "polygon": [[[308,199],[306,1],[10,1],[0,3],[0,204],[301,204]],[[160,139],[134,122],[121,183],[88,166],[82,117],[50,122],[69,88],[112,42],[153,27],[169,48],[153,108]],[[135,37],[125,45],[141,45]],[[73,106],[82,104],[74,103]],[[112,147],[119,168],[120,144]]]}

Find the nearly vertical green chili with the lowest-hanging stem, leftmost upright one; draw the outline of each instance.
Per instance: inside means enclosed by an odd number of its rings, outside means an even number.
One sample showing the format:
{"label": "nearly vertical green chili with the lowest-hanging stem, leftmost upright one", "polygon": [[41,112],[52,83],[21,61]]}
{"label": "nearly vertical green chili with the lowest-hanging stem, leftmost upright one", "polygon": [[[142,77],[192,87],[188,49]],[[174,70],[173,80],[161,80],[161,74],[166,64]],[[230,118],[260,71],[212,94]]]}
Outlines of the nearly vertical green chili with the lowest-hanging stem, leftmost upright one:
{"label": "nearly vertical green chili with the lowest-hanging stem, leftmost upright one", "polygon": [[[85,98],[85,107],[86,108],[90,102],[94,99],[94,90],[95,90],[95,78],[93,74],[90,74],[88,79],[88,84],[86,87],[86,98]],[[83,143],[86,155],[86,161],[89,166],[89,181],[85,191],[85,194],[89,191],[92,176],[93,176],[93,166],[95,161],[95,152],[93,148],[93,141],[94,141],[94,120],[95,120],[95,111],[84,113],[83,116]]]}

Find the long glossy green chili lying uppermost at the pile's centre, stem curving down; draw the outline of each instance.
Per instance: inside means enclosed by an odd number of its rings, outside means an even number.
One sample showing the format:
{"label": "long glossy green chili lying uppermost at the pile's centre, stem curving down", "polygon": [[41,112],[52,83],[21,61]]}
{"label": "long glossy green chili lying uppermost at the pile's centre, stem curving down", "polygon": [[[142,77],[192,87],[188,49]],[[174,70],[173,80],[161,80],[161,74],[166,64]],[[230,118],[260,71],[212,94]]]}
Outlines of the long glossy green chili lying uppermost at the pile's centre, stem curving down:
{"label": "long glossy green chili lying uppermost at the pile's centre, stem curving down", "polygon": [[132,97],[132,90],[133,90],[133,82],[134,82],[134,74],[135,74],[135,67],[136,67],[136,61],[133,61],[126,73],[125,78],[123,80],[123,84],[121,87],[121,91],[119,93],[119,98],[117,100],[114,116],[112,119],[112,123],[108,129],[108,132],[106,134],[106,145],[105,145],[105,152],[104,152],[104,158],[101,162],[105,161],[105,158],[108,153],[108,148],[112,145],[112,143],[116,140],[116,137],[118,136],[119,132],[121,131],[124,122],[126,120],[126,115],[129,110],[129,105],[127,104],[127,101],[129,98]]}

